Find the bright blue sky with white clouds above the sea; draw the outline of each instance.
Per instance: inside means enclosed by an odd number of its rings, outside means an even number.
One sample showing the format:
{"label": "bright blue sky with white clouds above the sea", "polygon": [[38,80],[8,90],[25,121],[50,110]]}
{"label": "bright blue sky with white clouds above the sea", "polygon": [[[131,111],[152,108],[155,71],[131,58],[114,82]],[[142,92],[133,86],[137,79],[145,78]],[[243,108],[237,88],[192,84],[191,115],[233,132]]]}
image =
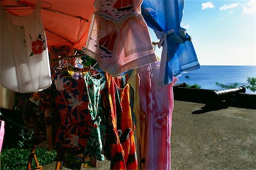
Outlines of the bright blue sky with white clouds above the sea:
{"label": "bright blue sky with white clouds above the sea", "polygon": [[256,65],[255,2],[185,0],[181,27],[200,65]]}

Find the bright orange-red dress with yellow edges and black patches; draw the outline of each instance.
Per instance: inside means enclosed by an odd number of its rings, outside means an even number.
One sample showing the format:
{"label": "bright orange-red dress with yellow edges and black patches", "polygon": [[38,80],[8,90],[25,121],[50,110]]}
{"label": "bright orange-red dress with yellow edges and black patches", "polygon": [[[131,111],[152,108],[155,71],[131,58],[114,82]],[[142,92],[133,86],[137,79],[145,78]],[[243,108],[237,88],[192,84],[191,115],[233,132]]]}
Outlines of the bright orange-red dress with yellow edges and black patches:
{"label": "bright orange-red dress with yellow edges and black patches", "polygon": [[111,145],[110,169],[137,169],[134,126],[130,108],[130,86],[120,88],[117,79],[106,74],[111,108],[110,119],[116,142]]}

